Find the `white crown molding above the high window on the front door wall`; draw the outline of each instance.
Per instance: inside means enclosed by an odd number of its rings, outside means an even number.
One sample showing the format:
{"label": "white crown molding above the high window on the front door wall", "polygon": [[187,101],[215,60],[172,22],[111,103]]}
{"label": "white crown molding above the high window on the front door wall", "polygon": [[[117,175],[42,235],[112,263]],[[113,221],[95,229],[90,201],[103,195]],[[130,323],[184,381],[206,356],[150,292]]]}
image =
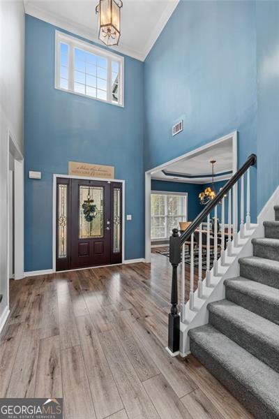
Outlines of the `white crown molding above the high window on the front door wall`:
{"label": "white crown molding above the high window on the front door wall", "polygon": [[[93,29],[90,31],[87,27],[85,27],[82,24],[77,24],[76,22],[73,22],[72,20],[66,20],[61,16],[54,15],[52,13],[49,13],[42,8],[39,8],[38,6],[33,6],[33,4],[28,3],[28,0],[24,1],[24,8],[25,13],[27,15],[36,17],[37,19],[43,20],[44,22],[53,24],[55,27],[59,27],[60,29],[63,29],[64,31],[68,31],[71,34],[75,34],[77,36],[81,36],[82,38],[85,38],[89,41],[93,41],[94,43],[97,43],[98,45],[104,46],[103,43],[98,39],[98,34]],[[130,47],[127,47],[126,45],[118,46],[117,49],[105,47],[108,50],[111,50],[114,53],[121,53],[128,55],[129,57],[133,57],[135,59],[138,59],[140,61],[144,61],[144,54],[141,54],[140,52],[137,52]]]}

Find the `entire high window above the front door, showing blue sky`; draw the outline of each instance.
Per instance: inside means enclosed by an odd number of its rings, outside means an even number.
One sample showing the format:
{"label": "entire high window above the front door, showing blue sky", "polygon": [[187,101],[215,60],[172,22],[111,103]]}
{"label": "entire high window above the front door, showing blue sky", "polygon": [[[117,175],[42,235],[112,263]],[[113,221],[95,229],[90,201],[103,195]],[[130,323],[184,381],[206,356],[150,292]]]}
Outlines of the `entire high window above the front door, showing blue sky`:
{"label": "entire high window above the front door, showing blue sky", "polygon": [[56,31],[56,89],[123,106],[123,57]]}

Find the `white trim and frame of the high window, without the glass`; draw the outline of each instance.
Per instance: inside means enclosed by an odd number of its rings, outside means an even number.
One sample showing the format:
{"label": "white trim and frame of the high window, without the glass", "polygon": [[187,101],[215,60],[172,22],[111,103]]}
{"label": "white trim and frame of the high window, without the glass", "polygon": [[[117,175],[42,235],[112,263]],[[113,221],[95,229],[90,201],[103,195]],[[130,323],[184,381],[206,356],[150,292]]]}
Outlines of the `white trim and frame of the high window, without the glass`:
{"label": "white trim and frame of the high window, without the glass", "polygon": [[[70,86],[70,80],[73,80],[73,75],[70,78],[69,77],[69,88],[63,89],[60,87],[60,52],[59,52],[59,43],[64,42],[68,43],[70,46],[80,47],[82,50],[86,52],[91,52],[92,54],[99,55],[101,57],[105,57],[108,59],[108,67],[107,67],[107,96],[112,96],[112,86],[111,86],[111,73],[110,73],[110,60],[116,61],[119,63],[119,80],[121,82],[119,83],[119,103],[115,103],[112,101],[105,101],[104,99],[100,98],[93,98],[91,96],[87,96],[86,94],[78,93],[77,91],[74,91],[73,86]],[[70,52],[73,51],[73,48],[70,47],[69,50],[69,75],[70,71],[73,71],[73,54]],[[121,108],[124,108],[124,57],[118,54],[114,54],[113,52],[109,52],[103,48],[96,47],[95,45],[92,45],[91,43],[88,43],[86,41],[82,41],[79,38],[75,38],[75,36],[70,36],[68,34],[64,34],[60,31],[55,31],[55,66],[54,66],[54,88],[66,91],[67,93],[71,94],[77,94],[78,96],[83,96],[88,99],[93,99],[93,101],[100,101],[104,103],[109,103],[110,105],[120,106]]]}

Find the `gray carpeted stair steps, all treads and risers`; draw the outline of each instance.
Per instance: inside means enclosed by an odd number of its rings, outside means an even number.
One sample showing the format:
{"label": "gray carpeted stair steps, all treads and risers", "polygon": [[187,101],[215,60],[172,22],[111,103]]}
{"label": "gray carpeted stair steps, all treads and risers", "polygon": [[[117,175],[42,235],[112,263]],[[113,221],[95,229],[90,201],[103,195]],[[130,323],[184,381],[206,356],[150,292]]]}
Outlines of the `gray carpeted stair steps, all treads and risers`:
{"label": "gray carpeted stair steps, all treads and risers", "polygon": [[225,300],[208,304],[209,324],[188,332],[190,351],[255,418],[279,418],[279,206],[226,279]]}

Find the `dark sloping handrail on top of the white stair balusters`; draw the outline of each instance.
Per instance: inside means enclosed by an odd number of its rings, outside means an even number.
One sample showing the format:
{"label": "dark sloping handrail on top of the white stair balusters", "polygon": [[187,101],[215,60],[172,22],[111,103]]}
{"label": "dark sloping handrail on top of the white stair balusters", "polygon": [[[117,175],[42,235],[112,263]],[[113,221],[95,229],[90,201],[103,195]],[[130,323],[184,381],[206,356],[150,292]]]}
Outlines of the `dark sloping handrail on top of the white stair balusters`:
{"label": "dark sloping handrail on top of the white stair balusters", "polygon": [[206,216],[210,214],[210,212],[214,209],[214,207],[216,207],[216,205],[220,203],[220,200],[223,198],[223,196],[226,195],[226,193],[230,189],[232,189],[232,186],[236,184],[236,182],[241,178],[241,176],[246,172],[246,170],[250,168],[250,166],[254,166],[256,162],[257,162],[257,156],[255,154],[251,154],[246,160],[246,162],[243,164],[243,166],[241,166],[241,168],[237,170],[237,172],[229,179],[229,181],[225,184],[225,186],[223,186],[223,188],[220,189],[216,197],[206,205],[204,210],[202,210],[202,212],[200,212],[199,215],[196,216],[195,220],[192,223],[190,223],[190,226],[188,226],[188,228],[186,228],[186,230],[183,231],[183,233],[180,235],[181,246],[183,243],[189,240],[190,235],[194,233],[196,228],[199,227],[199,224],[202,223],[202,221],[204,221]]}

